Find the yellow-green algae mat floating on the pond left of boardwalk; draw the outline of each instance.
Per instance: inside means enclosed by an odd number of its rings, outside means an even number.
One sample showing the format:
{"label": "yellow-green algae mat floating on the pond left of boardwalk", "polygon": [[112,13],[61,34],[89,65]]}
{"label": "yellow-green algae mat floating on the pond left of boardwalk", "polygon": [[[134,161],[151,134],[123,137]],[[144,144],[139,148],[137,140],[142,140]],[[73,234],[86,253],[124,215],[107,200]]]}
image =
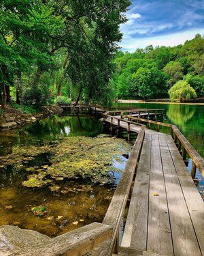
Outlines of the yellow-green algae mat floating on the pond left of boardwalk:
{"label": "yellow-green algae mat floating on the pond left of boardwalk", "polygon": [[[66,137],[60,143],[40,147],[17,147],[4,158],[3,165],[18,165],[29,176],[22,182],[27,188],[49,186],[52,192],[60,192],[58,182],[63,180],[89,180],[93,184],[114,182],[114,160],[123,162],[122,154],[130,152],[128,143],[112,137]],[[29,166],[29,161],[40,154],[49,153],[49,165]],[[63,193],[65,189],[62,188]]]}

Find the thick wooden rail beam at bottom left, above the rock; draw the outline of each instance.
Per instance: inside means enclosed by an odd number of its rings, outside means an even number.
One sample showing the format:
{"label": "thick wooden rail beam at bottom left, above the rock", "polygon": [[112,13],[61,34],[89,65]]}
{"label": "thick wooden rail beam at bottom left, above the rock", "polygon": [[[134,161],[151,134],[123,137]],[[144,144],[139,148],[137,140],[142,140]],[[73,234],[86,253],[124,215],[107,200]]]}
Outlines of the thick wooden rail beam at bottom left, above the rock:
{"label": "thick wooden rail beam at bottom left, above the rock", "polygon": [[79,229],[67,232],[61,236],[50,239],[46,244],[34,248],[24,248],[15,256],[35,255],[85,255],[93,248],[108,240],[112,236],[112,227],[101,223],[91,223]]}

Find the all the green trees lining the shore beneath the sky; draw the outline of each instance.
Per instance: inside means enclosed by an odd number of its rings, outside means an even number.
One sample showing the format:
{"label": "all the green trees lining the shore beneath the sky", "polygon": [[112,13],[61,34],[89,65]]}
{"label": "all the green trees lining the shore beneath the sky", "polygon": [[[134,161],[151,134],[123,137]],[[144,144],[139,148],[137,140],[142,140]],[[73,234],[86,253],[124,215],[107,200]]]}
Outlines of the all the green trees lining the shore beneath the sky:
{"label": "all the green trees lining the shore beneath the sky", "polygon": [[[204,39],[120,51],[131,1],[2,1],[1,108],[204,95]],[[175,85],[175,86],[173,86]],[[169,94],[168,94],[169,91]]]}

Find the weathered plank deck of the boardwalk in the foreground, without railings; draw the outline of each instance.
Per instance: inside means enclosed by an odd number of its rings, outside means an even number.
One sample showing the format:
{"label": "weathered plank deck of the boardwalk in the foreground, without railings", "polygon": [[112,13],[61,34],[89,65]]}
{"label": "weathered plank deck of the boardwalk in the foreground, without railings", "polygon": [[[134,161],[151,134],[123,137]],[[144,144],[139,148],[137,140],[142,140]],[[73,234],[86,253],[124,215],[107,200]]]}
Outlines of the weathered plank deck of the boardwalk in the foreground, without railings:
{"label": "weathered plank deck of the boardwalk in the foreground, without railings", "polygon": [[203,200],[171,135],[146,132],[121,246],[202,255],[203,218]]}

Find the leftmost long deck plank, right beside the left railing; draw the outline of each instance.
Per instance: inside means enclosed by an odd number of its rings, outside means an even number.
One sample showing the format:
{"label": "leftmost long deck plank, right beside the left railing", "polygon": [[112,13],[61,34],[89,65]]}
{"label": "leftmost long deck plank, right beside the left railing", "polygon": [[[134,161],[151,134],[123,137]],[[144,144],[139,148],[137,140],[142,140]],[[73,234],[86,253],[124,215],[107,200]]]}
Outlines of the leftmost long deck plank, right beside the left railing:
{"label": "leftmost long deck plank, right beside the left railing", "polygon": [[146,250],[151,141],[143,141],[121,246]]}

